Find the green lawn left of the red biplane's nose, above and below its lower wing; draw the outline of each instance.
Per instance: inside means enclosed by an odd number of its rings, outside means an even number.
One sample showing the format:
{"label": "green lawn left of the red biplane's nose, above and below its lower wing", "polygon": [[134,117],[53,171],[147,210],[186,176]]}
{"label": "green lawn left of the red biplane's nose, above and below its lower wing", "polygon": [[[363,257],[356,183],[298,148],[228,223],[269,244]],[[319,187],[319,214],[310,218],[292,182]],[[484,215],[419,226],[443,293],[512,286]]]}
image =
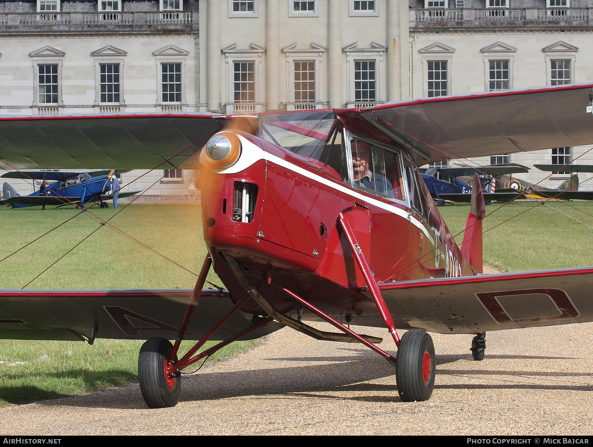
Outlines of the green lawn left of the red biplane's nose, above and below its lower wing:
{"label": "green lawn left of the red biplane's nose, above and below its lower wing", "polygon": [[[66,208],[11,211],[2,207],[0,287],[193,288],[196,275],[192,272],[199,273],[206,256],[205,245],[200,241],[202,224],[198,205],[130,205],[109,221],[127,236],[109,224],[101,225],[97,219],[107,221],[114,215],[113,208],[93,207],[80,213]],[[66,224],[24,247],[70,218]],[[9,256],[21,247],[24,248]],[[208,280],[221,285],[213,273]],[[233,343],[211,359],[232,355],[234,349],[246,349],[253,343]],[[0,405],[82,394],[135,382],[141,345],[142,341],[136,340],[97,339],[93,346],[82,341],[1,340],[0,362],[6,363],[0,363]]]}

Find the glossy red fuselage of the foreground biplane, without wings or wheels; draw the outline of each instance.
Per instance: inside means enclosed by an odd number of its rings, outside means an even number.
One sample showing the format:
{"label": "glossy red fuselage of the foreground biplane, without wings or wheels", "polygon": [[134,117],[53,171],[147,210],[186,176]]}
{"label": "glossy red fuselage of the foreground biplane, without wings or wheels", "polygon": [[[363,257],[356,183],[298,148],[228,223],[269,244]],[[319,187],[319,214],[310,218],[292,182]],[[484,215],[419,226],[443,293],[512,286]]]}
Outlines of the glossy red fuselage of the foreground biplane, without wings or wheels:
{"label": "glossy red fuselage of the foreground biplane, without wings or wheels", "polygon": [[[295,132],[294,122],[291,126],[289,130]],[[305,128],[309,130],[304,132]],[[282,129],[288,125],[282,124]],[[374,154],[381,151],[375,154],[377,159],[395,160],[385,162],[388,169],[383,171],[395,190],[387,197],[347,180],[352,178],[351,158],[327,162],[333,157],[331,151],[349,154],[355,135],[339,126],[330,127],[333,137],[310,129],[303,125],[296,133],[321,141],[323,154],[329,154],[326,162],[241,131],[235,132],[240,156],[231,166],[220,169],[202,155],[204,237],[215,271],[235,301],[245,291],[220,256],[223,251],[246,267],[251,282],[276,308],[291,302],[281,286],[338,320],[383,325],[337,225],[340,213],[346,216],[380,285],[472,273],[415,165],[400,148],[374,146]],[[335,135],[342,143],[335,143]],[[328,150],[331,138],[333,149]],[[256,305],[244,310],[262,313]],[[397,309],[391,312],[397,327],[408,327],[398,320]],[[302,315],[315,320],[311,317]]]}

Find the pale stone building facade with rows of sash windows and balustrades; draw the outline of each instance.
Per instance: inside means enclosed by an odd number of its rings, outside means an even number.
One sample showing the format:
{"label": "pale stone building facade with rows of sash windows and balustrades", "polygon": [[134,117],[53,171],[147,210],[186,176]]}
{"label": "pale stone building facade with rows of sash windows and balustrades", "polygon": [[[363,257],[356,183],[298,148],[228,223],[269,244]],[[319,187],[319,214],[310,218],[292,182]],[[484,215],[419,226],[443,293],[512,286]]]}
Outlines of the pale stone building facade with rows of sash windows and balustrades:
{"label": "pale stone building facade with rows of sash windows and balustrades", "polygon": [[[588,82],[592,14],[593,0],[8,0],[0,113],[257,113]],[[593,163],[588,149],[449,163]],[[187,197],[196,173],[170,168],[133,189]]]}

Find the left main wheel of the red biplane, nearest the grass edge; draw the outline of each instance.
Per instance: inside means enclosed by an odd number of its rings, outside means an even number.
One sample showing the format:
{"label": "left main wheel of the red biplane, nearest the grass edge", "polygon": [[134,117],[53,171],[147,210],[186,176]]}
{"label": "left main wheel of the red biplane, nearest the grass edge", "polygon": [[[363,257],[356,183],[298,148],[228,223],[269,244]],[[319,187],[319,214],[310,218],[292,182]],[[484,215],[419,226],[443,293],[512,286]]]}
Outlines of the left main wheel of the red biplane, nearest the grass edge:
{"label": "left main wheel of the red biplane, nearest the grass edge", "polygon": [[180,373],[172,377],[167,373],[171,350],[173,350],[173,344],[162,337],[153,337],[140,349],[138,379],[142,397],[149,408],[174,407],[179,401]]}

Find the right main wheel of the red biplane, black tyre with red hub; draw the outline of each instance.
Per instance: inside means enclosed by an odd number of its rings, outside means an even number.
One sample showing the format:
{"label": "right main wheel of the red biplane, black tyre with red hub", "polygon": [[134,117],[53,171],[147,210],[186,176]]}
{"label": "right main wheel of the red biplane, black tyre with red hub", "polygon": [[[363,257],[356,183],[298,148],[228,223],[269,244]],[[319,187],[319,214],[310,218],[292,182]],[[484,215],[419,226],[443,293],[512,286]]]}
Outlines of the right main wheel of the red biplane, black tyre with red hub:
{"label": "right main wheel of the red biplane, black tyre with red hub", "polygon": [[396,359],[397,391],[404,402],[429,400],[435,386],[435,346],[422,329],[407,331]]}

